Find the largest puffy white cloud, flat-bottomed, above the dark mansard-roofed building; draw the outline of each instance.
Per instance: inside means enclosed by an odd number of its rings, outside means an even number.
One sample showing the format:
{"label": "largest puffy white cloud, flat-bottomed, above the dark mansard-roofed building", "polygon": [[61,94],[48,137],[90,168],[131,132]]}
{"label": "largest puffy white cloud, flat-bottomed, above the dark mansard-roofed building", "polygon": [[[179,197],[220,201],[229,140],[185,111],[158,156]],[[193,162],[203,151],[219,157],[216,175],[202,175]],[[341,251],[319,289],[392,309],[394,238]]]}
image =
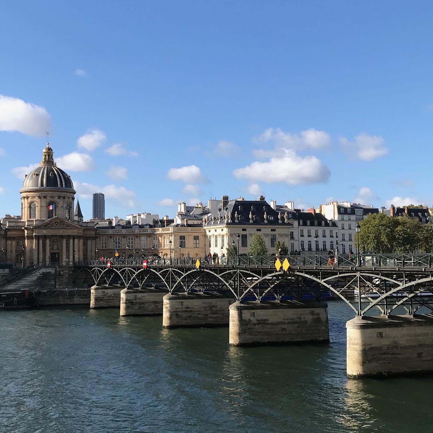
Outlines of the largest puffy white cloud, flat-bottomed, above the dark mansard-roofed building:
{"label": "largest puffy white cloud, flat-bottomed, above the dark mansard-roofed building", "polygon": [[238,178],[252,182],[286,182],[288,185],[325,183],[330,171],[315,156],[298,156],[294,151],[286,150],[281,158],[271,158],[268,162],[255,161],[249,166],[233,171]]}

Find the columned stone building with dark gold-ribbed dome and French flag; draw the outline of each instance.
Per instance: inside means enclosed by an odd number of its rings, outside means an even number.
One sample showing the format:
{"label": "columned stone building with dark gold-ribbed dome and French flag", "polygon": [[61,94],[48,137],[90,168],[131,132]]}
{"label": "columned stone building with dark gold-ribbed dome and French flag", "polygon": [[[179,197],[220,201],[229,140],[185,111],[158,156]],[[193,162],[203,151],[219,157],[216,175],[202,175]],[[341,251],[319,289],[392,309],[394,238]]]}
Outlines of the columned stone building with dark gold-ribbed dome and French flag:
{"label": "columned stone building with dark gold-ribbed dome and French flag", "polygon": [[2,261],[29,266],[94,259],[95,224],[83,222],[71,177],[57,167],[49,143],[19,192],[21,219],[3,224]]}

